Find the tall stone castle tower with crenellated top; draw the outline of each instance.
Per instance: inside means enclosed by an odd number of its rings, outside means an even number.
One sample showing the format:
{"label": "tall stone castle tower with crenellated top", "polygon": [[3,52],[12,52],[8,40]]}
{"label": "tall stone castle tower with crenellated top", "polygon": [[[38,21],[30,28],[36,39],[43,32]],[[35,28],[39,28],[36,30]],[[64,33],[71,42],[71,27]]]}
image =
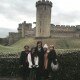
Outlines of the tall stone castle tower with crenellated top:
{"label": "tall stone castle tower with crenellated top", "polygon": [[36,8],[36,37],[50,37],[52,2],[39,0]]}

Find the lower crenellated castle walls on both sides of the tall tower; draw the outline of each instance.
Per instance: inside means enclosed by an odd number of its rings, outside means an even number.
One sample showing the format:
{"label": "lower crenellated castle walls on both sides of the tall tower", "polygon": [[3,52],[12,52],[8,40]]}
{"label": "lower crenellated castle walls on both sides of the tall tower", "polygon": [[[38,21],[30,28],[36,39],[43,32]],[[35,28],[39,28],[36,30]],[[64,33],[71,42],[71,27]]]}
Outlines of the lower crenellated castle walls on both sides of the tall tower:
{"label": "lower crenellated castle walls on both sides of the tall tower", "polygon": [[[30,23],[25,23],[26,26],[23,26],[22,24],[21,23],[19,24],[17,33],[9,32],[9,44],[10,45],[15,43],[16,41],[18,41],[20,38],[36,36],[36,34],[35,34],[36,27],[32,28],[32,26],[31,26],[32,24],[30,24]],[[24,33],[24,35],[23,35],[23,33]],[[80,25],[69,26],[69,25],[51,24],[50,37],[52,37],[52,38],[55,38],[55,37],[80,38]]]}

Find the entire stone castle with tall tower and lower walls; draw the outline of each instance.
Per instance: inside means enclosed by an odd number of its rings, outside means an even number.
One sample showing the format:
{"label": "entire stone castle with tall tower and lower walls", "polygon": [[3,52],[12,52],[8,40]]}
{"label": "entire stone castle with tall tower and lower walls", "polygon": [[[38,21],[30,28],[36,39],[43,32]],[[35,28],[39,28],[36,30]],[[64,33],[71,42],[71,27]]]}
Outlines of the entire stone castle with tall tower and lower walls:
{"label": "entire stone castle with tall tower and lower walls", "polygon": [[80,25],[54,25],[51,24],[52,2],[39,0],[36,2],[36,27],[32,28],[31,23],[20,23],[18,32],[9,32],[9,44],[13,44],[21,38],[55,38],[70,37],[80,38]]}

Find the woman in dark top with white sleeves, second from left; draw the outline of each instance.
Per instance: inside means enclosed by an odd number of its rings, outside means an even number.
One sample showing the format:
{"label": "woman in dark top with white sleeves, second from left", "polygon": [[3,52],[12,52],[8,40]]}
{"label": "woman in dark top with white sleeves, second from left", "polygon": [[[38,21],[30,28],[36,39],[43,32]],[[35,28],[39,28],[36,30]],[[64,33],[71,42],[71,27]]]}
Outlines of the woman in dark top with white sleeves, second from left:
{"label": "woman in dark top with white sleeves, second from left", "polygon": [[38,65],[39,58],[37,54],[35,53],[35,47],[31,49],[31,52],[28,54],[28,62],[29,62],[29,80],[35,80],[36,79],[36,71],[39,67]]}

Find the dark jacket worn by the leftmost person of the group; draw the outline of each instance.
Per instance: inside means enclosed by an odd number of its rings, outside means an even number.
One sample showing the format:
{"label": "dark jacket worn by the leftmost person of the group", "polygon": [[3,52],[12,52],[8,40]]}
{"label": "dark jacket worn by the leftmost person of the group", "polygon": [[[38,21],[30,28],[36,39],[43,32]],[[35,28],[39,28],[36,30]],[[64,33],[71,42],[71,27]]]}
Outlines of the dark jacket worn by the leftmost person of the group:
{"label": "dark jacket worn by the leftmost person of the group", "polygon": [[28,67],[28,65],[29,65],[29,63],[27,61],[28,53],[29,53],[29,51],[28,52],[25,52],[25,51],[21,52],[19,62],[20,62],[20,65],[23,65],[23,67]]}

